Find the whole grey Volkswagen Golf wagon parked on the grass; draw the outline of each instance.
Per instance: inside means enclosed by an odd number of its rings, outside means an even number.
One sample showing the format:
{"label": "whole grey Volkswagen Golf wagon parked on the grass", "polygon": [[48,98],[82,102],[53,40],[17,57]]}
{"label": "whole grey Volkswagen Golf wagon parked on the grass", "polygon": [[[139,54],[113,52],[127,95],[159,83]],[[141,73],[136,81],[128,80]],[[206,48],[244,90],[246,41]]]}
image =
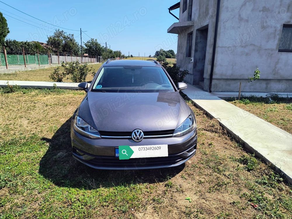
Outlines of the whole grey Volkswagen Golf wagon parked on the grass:
{"label": "whole grey Volkswagen Golf wagon parked on the grass", "polygon": [[71,123],[73,157],[97,169],[172,167],[197,149],[193,111],[156,60],[107,60]]}

